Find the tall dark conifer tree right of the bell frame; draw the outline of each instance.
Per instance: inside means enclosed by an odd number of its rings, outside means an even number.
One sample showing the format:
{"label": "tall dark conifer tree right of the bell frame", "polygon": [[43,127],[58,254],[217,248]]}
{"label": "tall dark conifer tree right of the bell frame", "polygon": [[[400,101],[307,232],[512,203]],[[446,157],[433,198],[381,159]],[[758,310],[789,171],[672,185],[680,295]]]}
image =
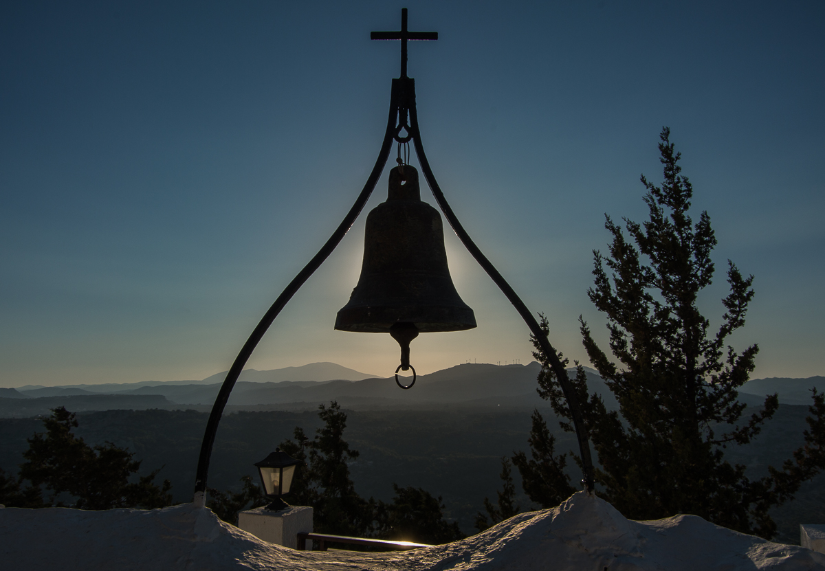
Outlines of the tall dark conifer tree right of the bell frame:
{"label": "tall dark conifer tree right of the bell frame", "polygon": [[[717,242],[707,213],[695,223],[688,213],[693,189],[681,175],[681,154],[669,136],[663,129],[662,186],[642,177],[648,220],[625,219],[628,239],[606,217],[609,255],[594,252],[595,287],[587,293],[606,314],[610,352],[620,365],[580,318],[587,356],[620,405],[618,412],[607,411],[597,394],[588,395],[579,367],[574,385],[601,465],[596,482],[600,495],[632,519],[693,513],[770,538],[775,524],[769,508],[792,498],[799,484],[823,467],[823,395],[814,393],[806,446],[782,470],[771,468],[769,475],[752,481],[745,466],[725,460],[724,448],[756,437],[778,399],[767,397],[761,411],[742,419],[745,404],[738,401],[737,389],[754,369],[758,347],[736,352],[727,340],[745,323],[753,276],[742,276],[728,261],[725,313],[719,329],[711,332],[697,299],[712,281],[710,253]],[[546,330],[546,319],[542,326]],[[543,365],[539,392],[569,421],[547,356],[535,339],[534,346]],[[569,422],[562,426],[572,430]]]}

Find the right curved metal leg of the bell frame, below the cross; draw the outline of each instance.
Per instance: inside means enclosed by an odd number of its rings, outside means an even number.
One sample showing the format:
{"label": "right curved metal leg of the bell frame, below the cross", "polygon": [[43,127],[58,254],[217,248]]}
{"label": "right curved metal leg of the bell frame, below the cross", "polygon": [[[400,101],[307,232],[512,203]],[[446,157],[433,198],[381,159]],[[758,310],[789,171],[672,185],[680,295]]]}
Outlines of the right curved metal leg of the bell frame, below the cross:
{"label": "right curved metal leg of the bell frame, below the cross", "polygon": [[527,306],[523,301],[521,301],[521,298],[516,294],[516,291],[512,289],[510,284],[507,283],[507,280],[505,280],[493,266],[493,263],[490,262],[487,257],[484,256],[479,247],[475,245],[472,238],[470,238],[469,234],[467,234],[467,231],[464,230],[464,226],[461,225],[459,219],[455,216],[453,209],[450,208],[449,204],[447,204],[447,199],[441,191],[441,187],[438,186],[436,177],[432,174],[430,163],[427,161],[427,155],[424,153],[424,145],[421,142],[421,131],[418,129],[418,113],[415,106],[415,81],[411,78],[403,78],[402,81],[407,83],[407,85],[404,86],[404,91],[406,92],[404,94],[404,100],[407,101],[410,114],[410,134],[413,136],[413,145],[415,146],[415,153],[418,157],[418,163],[421,165],[421,169],[424,172],[424,177],[427,179],[427,184],[430,186],[432,196],[435,197],[436,202],[441,208],[441,212],[444,213],[445,218],[448,222],[450,222],[450,226],[452,226],[453,230],[455,230],[455,234],[458,235],[461,242],[464,243],[464,248],[467,248],[467,251],[473,255],[475,261],[479,262],[479,266],[481,266],[493,282],[495,282],[498,289],[502,290],[502,293],[507,296],[507,300],[510,300],[510,303],[513,304],[513,307],[515,307],[516,311],[519,315],[521,315],[521,319],[524,319],[527,327],[530,328],[530,332],[533,333],[536,339],[538,339],[544,354],[549,357],[550,367],[553,369],[556,379],[559,380],[559,385],[561,385],[562,392],[564,393],[564,399],[567,400],[568,408],[570,409],[570,416],[573,419],[573,427],[576,428],[578,449],[582,459],[582,483],[585,485],[588,492],[592,492],[594,488],[594,481],[593,460],[590,454],[590,442],[588,441],[587,432],[582,419],[582,409],[579,406],[578,399],[573,391],[573,384],[570,382],[567,370],[564,369],[564,366],[559,360],[558,353],[556,353],[554,347],[550,345],[549,339],[546,335],[544,335],[544,332],[541,331],[539,323],[535,320],[533,314],[530,313],[530,309],[527,309]]}

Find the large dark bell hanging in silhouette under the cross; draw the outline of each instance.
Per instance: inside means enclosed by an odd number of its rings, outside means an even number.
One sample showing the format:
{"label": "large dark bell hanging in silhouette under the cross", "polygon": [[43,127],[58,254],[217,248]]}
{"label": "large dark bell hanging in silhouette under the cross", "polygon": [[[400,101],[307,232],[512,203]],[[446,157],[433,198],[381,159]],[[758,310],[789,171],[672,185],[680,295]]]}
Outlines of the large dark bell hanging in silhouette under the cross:
{"label": "large dark bell hanging in silhouette under the cross", "polygon": [[398,369],[408,370],[409,343],[418,333],[475,326],[450,277],[441,215],[421,201],[415,168],[393,168],[387,201],[366,218],[361,277],[335,328],[389,333],[401,346]]}

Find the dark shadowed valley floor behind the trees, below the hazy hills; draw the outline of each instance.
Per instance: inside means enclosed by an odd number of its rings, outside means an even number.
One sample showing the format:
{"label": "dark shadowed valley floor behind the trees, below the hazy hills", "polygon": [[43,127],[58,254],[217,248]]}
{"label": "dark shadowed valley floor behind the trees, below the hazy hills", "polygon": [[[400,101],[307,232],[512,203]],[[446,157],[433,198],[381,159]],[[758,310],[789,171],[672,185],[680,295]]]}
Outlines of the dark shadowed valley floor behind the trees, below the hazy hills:
{"label": "dark shadowed valley floor behind the trees, below the hazy hills", "polygon": [[[748,408],[745,414],[754,412]],[[542,410],[557,438],[556,451],[573,448],[573,437],[562,432],[554,414]],[[423,488],[441,496],[446,518],[459,522],[461,530],[475,531],[475,517],[484,511],[483,499],[495,498],[501,489],[502,456],[528,449],[530,409],[493,411],[462,408],[455,411],[351,411],[347,410],[344,438],[360,455],[349,465],[356,491],[365,498],[391,502],[393,483]],[[786,451],[802,444],[808,408],[780,404],[770,426],[751,444],[729,451],[730,460],[747,464],[759,474],[766,465],[777,465]],[[157,480],[169,479],[175,503],[190,502],[197,454],[208,413],[194,411],[106,411],[78,415],[75,433],[90,445],[111,441],[143,460],[139,474],[160,468]],[[295,427],[312,437],[323,426],[317,410],[303,413],[233,413],[221,421],[210,468],[210,487],[241,491],[241,478],[257,474],[253,464],[292,439]],[[27,438],[44,432],[37,418],[0,419],[0,468],[16,474],[28,449]],[[571,463],[572,464],[572,463]],[[573,481],[581,476],[568,466]],[[299,477],[299,476],[298,476]],[[513,470],[516,503],[521,511],[537,507],[521,491],[521,479]],[[257,482],[257,480],[256,480]],[[287,498],[290,501],[290,498]],[[794,502],[771,512],[779,526],[779,540],[799,541],[799,522],[825,519],[825,479],[804,484]]]}

